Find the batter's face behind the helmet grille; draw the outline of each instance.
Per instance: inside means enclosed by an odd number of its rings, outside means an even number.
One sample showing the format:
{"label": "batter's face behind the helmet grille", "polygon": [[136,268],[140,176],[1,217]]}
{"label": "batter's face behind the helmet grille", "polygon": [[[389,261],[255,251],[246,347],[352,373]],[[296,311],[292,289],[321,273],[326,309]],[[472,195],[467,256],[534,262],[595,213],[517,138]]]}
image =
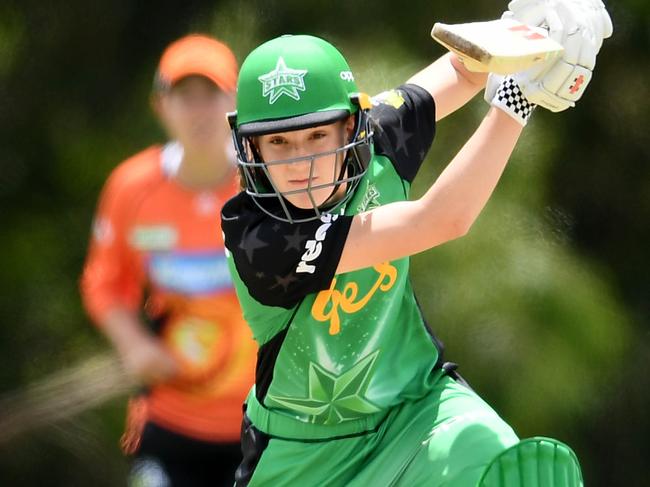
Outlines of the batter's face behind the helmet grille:
{"label": "batter's face behind the helmet grille", "polygon": [[[256,139],[256,145],[278,191],[292,205],[308,209],[313,208],[314,204],[320,206],[328,200],[336,201],[345,194],[345,184],[341,184],[332,196],[345,158],[344,152],[333,151],[347,143],[353,128],[354,119],[350,117],[329,125],[262,135]],[[312,157],[328,152],[320,157]],[[279,162],[296,158],[302,159]],[[311,189],[307,191],[308,188]]]}

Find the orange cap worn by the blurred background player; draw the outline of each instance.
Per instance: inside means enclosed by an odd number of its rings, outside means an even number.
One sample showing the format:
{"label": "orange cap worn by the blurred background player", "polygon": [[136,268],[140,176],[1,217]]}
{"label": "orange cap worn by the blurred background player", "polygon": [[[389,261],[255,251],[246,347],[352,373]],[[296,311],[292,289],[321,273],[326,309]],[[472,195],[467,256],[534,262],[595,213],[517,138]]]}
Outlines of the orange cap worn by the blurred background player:
{"label": "orange cap worn by the blurred background player", "polygon": [[160,58],[156,83],[169,88],[187,76],[205,76],[223,91],[235,91],[237,60],[228,46],[199,34],[181,37],[170,44]]}

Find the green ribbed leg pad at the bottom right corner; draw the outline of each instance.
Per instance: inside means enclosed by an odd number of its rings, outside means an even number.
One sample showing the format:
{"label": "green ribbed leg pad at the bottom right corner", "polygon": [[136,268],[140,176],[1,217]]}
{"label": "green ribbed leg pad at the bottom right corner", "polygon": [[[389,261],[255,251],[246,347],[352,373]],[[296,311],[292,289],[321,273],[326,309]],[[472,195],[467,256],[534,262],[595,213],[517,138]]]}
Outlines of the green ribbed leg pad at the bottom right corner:
{"label": "green ribbed leg pad at the bottom right corner", "polygon": [[573,450],[552,438],[528,438],[501,452],[477,487],[583,487]]}

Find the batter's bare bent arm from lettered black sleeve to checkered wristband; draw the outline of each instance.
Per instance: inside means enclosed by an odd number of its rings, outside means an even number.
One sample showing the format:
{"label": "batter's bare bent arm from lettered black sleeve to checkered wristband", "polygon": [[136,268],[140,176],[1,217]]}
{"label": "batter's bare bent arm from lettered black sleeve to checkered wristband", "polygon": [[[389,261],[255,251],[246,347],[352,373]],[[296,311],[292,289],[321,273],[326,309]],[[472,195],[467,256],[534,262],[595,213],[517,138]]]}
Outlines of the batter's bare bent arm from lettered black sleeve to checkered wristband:
{"label": "batter's bare bent arm from lettered black sleeve to checkered wristband", "polygon": [[424,196],[354,217],[336,272],[413,255],[465,235],[492,194],[521,131],[509,115],[491,108]]}

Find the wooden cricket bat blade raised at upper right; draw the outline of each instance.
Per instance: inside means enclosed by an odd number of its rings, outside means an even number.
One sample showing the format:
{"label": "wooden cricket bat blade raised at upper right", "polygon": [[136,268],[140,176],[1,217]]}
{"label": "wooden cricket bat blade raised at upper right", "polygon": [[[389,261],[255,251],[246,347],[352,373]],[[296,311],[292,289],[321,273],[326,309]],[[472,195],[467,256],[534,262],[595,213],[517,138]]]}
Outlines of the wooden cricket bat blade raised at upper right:
{"label": "wooden cricket bat blade raised at upper right", "polygon": [[514,19],[466,24],[436,22],[431,37],[458,55],[470,71],[511,74],[562,54],[545,29]]}

